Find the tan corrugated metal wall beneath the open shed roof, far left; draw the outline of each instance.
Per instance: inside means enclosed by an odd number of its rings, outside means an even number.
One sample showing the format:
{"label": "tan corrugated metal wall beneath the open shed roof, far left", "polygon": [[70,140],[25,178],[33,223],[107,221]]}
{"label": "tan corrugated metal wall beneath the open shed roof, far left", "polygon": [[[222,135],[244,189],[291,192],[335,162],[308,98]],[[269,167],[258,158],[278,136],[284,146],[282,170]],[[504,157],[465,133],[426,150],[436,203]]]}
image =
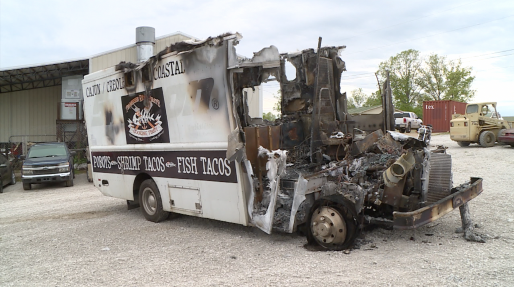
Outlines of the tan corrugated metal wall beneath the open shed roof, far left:
{"label": "tan corrugated metal wall beneath the open shed roof, far left", "polygon": [[[55,135],[61,86],[0,94],[0,142],[13,135]],[[13,139],[20,139],[16,137]],[[29,141],[53,138],[29,137]]]}

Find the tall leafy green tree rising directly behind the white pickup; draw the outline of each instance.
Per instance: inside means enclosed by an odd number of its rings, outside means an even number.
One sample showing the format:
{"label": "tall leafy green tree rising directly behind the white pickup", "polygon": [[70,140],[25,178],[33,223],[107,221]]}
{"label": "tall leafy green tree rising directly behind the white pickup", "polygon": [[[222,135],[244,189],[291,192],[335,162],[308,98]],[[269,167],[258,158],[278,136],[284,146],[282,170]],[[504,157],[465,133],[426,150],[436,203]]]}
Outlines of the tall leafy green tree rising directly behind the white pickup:
{"label": "tall leafy green tree rising directly behind the white pickup", "polygon": [[423,58],[419,51],[402,51],[381,62],[377,71],[380,85],[386,80],[388,70],[394,106],[405,111],[412,111],[420,106],[423,102],[420,85],[423,77]]}

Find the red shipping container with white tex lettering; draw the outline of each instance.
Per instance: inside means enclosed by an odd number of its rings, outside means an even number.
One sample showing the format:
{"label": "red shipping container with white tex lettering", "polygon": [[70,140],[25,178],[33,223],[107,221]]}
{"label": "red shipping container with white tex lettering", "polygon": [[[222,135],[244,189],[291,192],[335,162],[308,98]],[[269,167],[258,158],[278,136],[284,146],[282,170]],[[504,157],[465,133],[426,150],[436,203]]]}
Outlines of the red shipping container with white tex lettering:
{"label": "red shipping container with white tex lettering", "polygon": [[423,124],[432,125],[436,133],[449,132],[451,115],[464,114],[466,105],[454,100],[423,101]]}

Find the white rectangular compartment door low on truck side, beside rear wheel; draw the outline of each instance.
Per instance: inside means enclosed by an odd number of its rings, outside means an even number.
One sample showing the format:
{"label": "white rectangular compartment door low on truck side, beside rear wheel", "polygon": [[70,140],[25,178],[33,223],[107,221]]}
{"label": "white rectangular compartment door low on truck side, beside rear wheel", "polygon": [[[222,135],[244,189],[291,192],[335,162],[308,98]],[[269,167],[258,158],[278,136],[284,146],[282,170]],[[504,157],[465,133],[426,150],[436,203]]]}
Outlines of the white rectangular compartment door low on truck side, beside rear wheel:
{"label": "white rectangular compartment door low on truck side, beside rear wheel", "polygon": [[[200,189],[168,185],[172,211],[187,211],[202,214]],[[163,202],[164,203],[164,202]]]}

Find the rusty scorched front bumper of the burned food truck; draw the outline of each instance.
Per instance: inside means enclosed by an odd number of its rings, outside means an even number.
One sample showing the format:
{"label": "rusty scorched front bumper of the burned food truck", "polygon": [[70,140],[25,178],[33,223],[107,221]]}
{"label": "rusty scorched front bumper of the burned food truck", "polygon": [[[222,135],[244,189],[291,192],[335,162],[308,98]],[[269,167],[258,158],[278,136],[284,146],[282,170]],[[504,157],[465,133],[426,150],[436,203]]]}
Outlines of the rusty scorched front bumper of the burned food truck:
{"label": "rusty scorched front bumper of the burned food truck", "polygon": [[482,193],[482,178],[472,177],[470,181],[453,190],[452,194],[429,206],[411,212],[393,212],[393,228],[403,230],[415,229],[433,222],[462,206]]}

